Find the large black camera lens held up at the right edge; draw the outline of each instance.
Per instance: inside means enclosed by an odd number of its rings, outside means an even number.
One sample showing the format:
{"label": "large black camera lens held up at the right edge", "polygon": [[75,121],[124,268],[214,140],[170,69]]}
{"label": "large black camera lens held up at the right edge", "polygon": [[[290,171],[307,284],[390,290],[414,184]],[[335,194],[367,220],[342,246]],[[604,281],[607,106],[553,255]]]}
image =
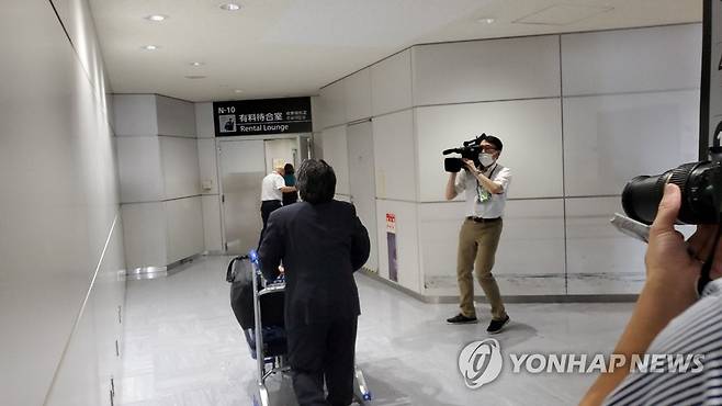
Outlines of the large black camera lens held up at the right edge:
{"label": "large black camera lens held up at the right edge", "polygon": [[630,180],[622,191],[622,207],[627,215],[652,224],[667,183],[678,185],[681,191],[678,223],[720,223],[722,167],[713,161],[682,163],[662,174],[640,176]]}

